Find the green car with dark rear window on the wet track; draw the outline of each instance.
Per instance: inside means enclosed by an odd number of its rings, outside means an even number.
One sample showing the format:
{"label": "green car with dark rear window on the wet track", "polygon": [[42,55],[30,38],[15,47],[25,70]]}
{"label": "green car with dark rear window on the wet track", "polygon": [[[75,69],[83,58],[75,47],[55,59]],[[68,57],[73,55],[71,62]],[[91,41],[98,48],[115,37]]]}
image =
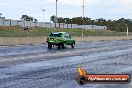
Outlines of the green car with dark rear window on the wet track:
{"label": "green car with dark rear window on the wet track", "polygon": [[48,35],[47,41],[48,48],[58,46],[58,48],[65,48],[66,45],[71,45],[72,48],[75,46],[75,40],[66,32],[52,32]]}

